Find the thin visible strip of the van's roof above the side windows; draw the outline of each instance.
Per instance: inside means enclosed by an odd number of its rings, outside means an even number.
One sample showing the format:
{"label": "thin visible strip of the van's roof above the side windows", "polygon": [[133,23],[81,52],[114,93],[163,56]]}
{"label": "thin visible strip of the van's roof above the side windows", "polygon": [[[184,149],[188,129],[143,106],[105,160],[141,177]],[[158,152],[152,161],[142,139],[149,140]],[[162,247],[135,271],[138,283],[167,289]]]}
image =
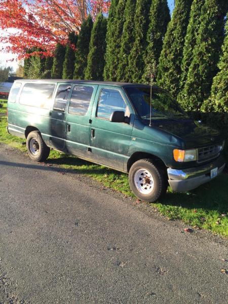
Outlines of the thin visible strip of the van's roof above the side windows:
{"label": "thin visible strip of the van's roof above the side windows", "polygon": [[[133,83],[124,83],[124,82],[111,82],[111,81],[92,81],[92,80],[64,80],[64,79],[20,79],[15,82],[63,82],[63,83],[81,83],[81,84],[93,84],[93,85],[108,85],[108,86],[117,86],[117,87],[127,87],[127,86],[140,86],[147,87],[148,85],[143,84],[133,84]],[[158,86],[153,86],[153,88],[159,88]]]}

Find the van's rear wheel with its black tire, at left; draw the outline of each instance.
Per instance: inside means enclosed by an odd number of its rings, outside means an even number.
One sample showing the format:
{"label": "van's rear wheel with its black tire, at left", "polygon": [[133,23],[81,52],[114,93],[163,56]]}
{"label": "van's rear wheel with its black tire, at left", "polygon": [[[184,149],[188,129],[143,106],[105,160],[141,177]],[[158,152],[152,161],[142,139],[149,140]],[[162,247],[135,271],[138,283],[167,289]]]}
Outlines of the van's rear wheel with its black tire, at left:
{"label": "van's rear wheel with its black tire, at left", "polygon": [[43,162],[49,157],[50,148],[44,142],[39,131],[32,131],[28,134],[26,146],[28,155],[34,162]]}

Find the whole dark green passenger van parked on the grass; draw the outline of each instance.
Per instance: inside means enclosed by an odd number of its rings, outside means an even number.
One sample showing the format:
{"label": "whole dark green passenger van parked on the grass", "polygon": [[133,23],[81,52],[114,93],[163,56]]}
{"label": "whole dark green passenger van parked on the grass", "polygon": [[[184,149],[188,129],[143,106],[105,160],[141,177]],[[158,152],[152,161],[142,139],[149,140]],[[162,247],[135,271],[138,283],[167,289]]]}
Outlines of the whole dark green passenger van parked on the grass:
{"label": "whole dark green passenger van parked on the grass", "polygon": [[194,189],[225,166],[219,132],[189,118],[156,86],[18,80],[7,129],[26,138],[36,162],[54,148],[129,173],[133,193],[147,202],[158,200],[168,184],[178,192]]}

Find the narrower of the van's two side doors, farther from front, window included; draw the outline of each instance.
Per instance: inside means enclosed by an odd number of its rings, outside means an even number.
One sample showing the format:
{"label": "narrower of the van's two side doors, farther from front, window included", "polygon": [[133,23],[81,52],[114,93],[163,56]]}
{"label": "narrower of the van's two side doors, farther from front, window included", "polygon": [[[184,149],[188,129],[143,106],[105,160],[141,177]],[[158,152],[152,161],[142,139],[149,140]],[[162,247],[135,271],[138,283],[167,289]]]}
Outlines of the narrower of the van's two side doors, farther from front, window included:
{"label": "narrower of the van's two side doors, farther from front, window included", "polygon": [[50,111],[50,143],[59,150],[65,150],[65,111],[71,86],[58,84],[53,109]]}

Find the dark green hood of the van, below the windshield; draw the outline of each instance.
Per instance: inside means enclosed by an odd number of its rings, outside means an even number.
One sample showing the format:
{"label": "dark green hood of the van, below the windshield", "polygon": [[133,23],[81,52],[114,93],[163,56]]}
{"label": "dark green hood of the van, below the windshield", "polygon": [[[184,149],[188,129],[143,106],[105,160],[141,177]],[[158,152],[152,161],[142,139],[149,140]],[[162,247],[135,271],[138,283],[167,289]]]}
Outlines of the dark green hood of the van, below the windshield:
{"label": "dark green hood of the van, below the windshield", "polygon": [[153,127],[180,137],[185,143],[185,148],[204,147],[222,141],[219,131],[193,119],[153,120]]}

